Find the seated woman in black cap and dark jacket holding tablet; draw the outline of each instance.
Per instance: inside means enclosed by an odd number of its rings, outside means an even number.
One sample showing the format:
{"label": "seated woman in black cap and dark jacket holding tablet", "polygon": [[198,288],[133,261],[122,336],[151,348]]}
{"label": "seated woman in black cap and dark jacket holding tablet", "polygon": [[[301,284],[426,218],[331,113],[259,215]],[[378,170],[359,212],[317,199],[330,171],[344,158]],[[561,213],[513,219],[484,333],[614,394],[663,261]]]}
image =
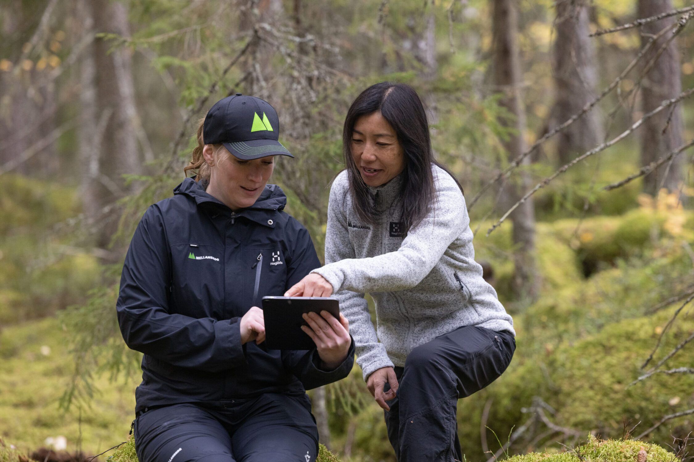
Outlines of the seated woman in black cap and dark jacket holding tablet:
{"label": "seated woman in black cap and dark jacket holding tablet", "polygon": [[312,462],[318,432],[305,390],[353,365],[344,317],[312,314],[312,350],[267,350],[262,296],[320,266],[311,238],[266,184],[279,121],[264,100],[217,102],[198,127],[186,178],[137,226],[117,301],[126,344],[144,353],[135,391],[141,462]]}

